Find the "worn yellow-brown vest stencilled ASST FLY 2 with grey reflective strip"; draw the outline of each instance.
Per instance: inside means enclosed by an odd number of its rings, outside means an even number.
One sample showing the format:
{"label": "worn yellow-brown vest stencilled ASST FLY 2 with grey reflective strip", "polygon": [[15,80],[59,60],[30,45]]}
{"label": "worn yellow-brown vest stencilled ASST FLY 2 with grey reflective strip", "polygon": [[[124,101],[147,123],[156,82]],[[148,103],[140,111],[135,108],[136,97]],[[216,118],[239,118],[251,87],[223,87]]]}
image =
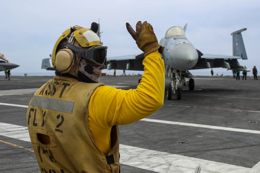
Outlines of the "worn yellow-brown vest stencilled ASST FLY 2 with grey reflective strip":
{"label": "worn yellow-brown vest stencilled ASST FLY 2 with grey reflective strip", "polygon": [[89,100],[101,85],[53,79],[36,91],[26,118],[41,172],[120,172],[118,125],[111,129],[108,156],[88,126]]}

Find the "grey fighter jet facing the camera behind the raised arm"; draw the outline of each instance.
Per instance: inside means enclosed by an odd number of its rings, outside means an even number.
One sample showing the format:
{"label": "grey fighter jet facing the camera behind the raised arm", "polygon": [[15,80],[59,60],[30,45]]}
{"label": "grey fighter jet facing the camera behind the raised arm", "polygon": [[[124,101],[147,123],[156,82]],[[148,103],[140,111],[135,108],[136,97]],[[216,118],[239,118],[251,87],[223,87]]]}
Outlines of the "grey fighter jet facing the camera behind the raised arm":
{"label": "grey fighter jet facing the camera behind the raised arm", "polygon": [[[231,33],[233,37],[233,56],[223,56],[203,54],[195,49],[185,36],[186,26],[187,24],[183,29],[180,26],[171,26],[160,40],[160,45],[164,47],[162,58],[165,64],[165,89],[167,90],[168,100],[172,99],[172,94],[176,94],[177,100],[181,99],[181,89],[178,84],[194,90],[194,80],[189,70],[222,67],[227,70],[250,71],[248,68],[239,65],[237,61],[237,59],[247,59],[241,34],[246,28]],[[143,71],[143,59],[143,53],[137,56],[110,57],[107,58],[105,68],[107,70]],[[186,81],[185,78],[189,78],[189,81]]]}

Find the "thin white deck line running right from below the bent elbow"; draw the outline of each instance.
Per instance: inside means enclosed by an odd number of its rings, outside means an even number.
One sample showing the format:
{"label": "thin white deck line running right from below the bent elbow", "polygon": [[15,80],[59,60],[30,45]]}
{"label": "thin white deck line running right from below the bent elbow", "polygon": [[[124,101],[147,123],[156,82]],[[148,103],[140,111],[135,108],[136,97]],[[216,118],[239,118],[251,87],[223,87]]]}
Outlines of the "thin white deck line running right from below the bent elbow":
{"label": "thin white deck line running right from below the bent elbow", "polygon": [[165,124],[180,125],[180,126],[191,126],[191,127],[199,127],[199,128],[227,130],[227,131],[233,131],[233,132],[244,132],[244,133],[260,134],[260,131],[258,131],[258,130],[237,129],[237,128],[230,128],[230,127],[210,126],[210,125],[204,125],[204,124],[174,122],[174,121],[156,120],[156,119],[148,119],[148,118],[144,118],[144,119],[139,120],[139,121],[149,121],[149,122],[165,123]]}

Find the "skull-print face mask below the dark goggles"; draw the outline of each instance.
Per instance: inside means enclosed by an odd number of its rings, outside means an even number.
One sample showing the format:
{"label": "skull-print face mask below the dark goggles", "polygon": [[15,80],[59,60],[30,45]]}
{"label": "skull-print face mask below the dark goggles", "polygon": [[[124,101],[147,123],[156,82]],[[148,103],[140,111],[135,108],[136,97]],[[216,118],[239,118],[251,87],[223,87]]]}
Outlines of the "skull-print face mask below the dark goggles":
{"label": "skull-print face mask below the dark goggles", "polygon": [[78,77],[87,83],[98,83],[103,68],[104,65],[92,67],[84,58],[81,58]]}

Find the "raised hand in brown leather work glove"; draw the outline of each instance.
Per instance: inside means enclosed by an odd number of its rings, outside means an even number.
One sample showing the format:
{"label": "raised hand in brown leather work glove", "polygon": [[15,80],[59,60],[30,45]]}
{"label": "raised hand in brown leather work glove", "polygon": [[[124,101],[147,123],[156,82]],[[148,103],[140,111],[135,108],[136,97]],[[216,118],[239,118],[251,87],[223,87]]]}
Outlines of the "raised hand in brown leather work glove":
{"label": "raised hand in brown leather work glove", "polygon": [[136,41],[137,46],[144,52],[144,57],[149,53],[158,50],[162,53],[163,47],[158,44],[158,40],[153,32],[153,26],[146,21],[136,23],[136,32],[129,23],[126,23],[126,29]]}

